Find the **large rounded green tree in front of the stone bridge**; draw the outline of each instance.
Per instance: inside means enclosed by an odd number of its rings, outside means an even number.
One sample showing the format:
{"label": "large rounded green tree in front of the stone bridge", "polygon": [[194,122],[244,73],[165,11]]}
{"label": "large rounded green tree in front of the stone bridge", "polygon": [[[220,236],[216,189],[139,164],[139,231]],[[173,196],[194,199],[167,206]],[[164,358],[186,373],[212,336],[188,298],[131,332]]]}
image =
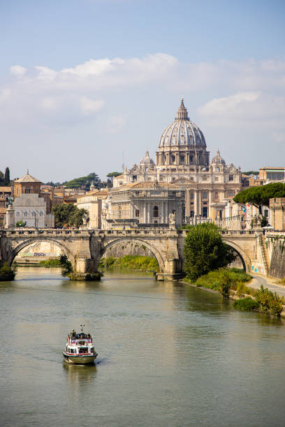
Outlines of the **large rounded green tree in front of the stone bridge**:
{"label": "large rounded green tree in front of the stone bridge", "polygon": [[217,225],[190,227],[184,243],[184,271],[192,281],[235,260],[233,248],[224,244]]}

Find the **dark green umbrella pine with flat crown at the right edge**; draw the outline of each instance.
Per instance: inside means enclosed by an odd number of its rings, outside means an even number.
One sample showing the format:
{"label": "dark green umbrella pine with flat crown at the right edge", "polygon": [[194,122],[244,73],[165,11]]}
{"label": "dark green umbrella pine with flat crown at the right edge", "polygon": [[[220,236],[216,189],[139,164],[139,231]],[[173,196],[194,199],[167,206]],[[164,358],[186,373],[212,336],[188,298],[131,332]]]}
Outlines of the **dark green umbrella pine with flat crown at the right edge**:
{"label": "dark green umbrella pine with flat crown at the right edge", "polygon": [[249,187],[246,190],[240,191],[233,200],[235,203],[249,203],[258,208],[261,214],[263,206],[269,207],[269,200],[272,197],[285,197],[285,184],[282,182],[274,182],[265,186]]}

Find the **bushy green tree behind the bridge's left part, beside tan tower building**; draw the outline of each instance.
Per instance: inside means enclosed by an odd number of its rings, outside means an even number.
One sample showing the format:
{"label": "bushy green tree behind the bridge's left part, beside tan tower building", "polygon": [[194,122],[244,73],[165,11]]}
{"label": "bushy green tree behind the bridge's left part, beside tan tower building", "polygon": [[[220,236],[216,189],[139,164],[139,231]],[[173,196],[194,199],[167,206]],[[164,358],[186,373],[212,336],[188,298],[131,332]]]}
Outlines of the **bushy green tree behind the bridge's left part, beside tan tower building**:
{"label": "bushy green tree behind the bridge's left part, beside tan tower building", "polygon": [[52,208],[57,227],[80,227],[84,222],[89,223],[89,213],[86,209],[78,209],[73,203],[57,204]]}

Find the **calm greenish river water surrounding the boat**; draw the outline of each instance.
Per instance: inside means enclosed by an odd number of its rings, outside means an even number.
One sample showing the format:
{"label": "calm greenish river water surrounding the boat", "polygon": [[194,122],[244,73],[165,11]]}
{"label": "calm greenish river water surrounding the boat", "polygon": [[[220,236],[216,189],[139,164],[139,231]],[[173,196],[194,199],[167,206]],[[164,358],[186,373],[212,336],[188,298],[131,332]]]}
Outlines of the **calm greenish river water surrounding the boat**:
{"label": "calm greenish river water surrounding the boat", "polygon": [[[146,274],[0,284],[1,426],[284,426],[284,320]],[[85,324],[95,366],[63,361]]]}

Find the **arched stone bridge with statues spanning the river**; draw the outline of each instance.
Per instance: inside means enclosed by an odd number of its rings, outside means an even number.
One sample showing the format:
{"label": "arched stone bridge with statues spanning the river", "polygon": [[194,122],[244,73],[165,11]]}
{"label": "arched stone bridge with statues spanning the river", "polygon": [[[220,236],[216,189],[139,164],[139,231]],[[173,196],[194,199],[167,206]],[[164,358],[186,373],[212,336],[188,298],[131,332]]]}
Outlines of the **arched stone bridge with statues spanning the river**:
{"label": "arched stone bridge with statues spanning the river", "polygon": [[[221,230],[226,244],[235,249],[244,269],[268,275],[270,250],[261,231]],[[267,233],[265,233],[267,234]],[[144,245],[156,257],[160,280],[183,276],[183,246],[187,230],[10,230],[0,231],[0,261],[12,264],[17,253],[36,241],[50,241],[67,255],[73,271],[94,273],[105,251],[122,242]]]}

